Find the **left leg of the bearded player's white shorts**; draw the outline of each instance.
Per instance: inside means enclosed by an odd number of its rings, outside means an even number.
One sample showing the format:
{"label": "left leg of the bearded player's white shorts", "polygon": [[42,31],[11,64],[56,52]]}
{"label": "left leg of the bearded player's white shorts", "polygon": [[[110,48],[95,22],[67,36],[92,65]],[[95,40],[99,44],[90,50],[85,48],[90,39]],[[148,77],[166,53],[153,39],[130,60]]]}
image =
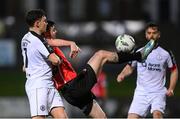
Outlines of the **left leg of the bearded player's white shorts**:
{"label": "left leg of the bearded player's white shorts", "polygon": [[137,114],[144,117],[147,115],[149,107],[150,103],[146,96],[135,93],[128,114]]}

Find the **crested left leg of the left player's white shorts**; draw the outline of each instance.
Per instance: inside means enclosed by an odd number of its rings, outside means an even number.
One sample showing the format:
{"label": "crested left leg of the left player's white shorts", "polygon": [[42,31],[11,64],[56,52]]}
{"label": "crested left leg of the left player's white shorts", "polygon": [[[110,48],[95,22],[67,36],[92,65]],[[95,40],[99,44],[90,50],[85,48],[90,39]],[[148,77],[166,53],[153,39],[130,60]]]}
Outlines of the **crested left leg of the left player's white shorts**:
{"label": "crested left leg of the left player's white shorts", "polygon": [[37,88],[26,91],[30,104],[31,116],[48,115],[47,88]]}

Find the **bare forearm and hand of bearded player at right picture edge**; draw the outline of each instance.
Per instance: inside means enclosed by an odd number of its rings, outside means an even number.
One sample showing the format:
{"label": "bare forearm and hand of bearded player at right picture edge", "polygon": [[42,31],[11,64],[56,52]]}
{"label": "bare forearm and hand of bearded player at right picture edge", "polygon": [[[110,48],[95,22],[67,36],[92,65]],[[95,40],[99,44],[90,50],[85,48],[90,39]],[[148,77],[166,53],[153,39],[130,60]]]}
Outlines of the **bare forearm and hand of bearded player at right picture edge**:
{"label": "bare forearm and hand of bearded player at right picture edge", "polygon": [[176,68],[171,70],[170,84],[169,84],[169,88],[168,88],[167,93],[166,93],[167,96],[173,96],[174,95],[174,89],[176,87],[177,80],[178,80],[178,68],[176,66]]}

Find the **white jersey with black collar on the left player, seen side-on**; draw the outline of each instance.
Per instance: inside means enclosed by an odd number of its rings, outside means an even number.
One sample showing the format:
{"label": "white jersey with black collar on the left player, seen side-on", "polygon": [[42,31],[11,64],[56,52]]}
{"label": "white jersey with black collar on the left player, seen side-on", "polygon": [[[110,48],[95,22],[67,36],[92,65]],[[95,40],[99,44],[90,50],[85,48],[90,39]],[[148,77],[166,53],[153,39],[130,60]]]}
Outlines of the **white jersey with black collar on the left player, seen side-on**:
{"label": "white jersey with black collar on the left player, seen side-on", "polygon": [[21,41],[23,61],[26,71],[26,89],[53,87],[50,52],[35,32],[28,32]]}

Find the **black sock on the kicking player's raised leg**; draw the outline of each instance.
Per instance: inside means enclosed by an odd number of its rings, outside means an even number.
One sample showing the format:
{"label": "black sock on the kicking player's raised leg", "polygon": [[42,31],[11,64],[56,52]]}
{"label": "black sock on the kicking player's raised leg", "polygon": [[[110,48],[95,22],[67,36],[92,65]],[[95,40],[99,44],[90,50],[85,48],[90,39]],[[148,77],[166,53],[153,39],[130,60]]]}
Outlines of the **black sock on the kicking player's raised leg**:
{"label": "black sock on the kicking player's raised leg", "polygon": [[141,53],[140,52],[136,52],[136,53],[127,53],[127,52],[119,52],[118,54],[118,58],[119,58],[119,63],[124,63],[124,62],[128,62],[128,61],[133,61],[133,60],[137,60],[137,61],[141,61]]}

